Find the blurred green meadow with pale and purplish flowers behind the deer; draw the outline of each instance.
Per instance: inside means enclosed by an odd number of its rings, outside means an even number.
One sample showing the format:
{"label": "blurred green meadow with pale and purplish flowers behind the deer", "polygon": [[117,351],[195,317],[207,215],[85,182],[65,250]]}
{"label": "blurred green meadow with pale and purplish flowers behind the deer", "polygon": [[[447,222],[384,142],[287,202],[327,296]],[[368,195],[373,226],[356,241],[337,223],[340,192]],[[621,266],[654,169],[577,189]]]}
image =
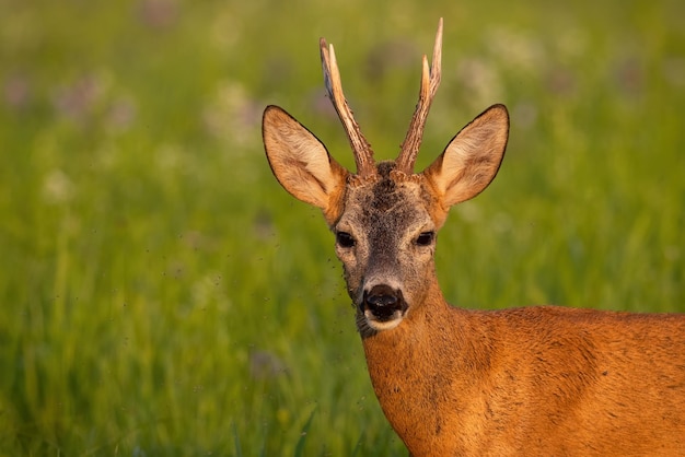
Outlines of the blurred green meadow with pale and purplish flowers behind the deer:
{"label": "blurred green meadow with pale and purplish flowers behind the deer", "polygon": [[678,0],[0,9],[2,455],[406,455],[333,237],[262,149],[278,104],[352,165],[320,36],[380,159],[440,16],[418,166],[510,108],[498,178],[440,235],[452,303],[685,312]]}

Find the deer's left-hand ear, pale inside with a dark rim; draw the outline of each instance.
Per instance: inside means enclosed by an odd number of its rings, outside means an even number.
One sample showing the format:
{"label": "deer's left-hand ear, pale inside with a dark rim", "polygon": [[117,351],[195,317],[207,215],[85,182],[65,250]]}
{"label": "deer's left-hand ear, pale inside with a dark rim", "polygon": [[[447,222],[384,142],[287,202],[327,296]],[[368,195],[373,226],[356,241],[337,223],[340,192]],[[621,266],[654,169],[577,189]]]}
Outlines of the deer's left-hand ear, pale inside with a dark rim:
{"label": "deer's left-hand ear, pale inside with a dark rim", "polygon": [[347,169],[326,147],[278,106],[267,106],[262,118],[266,156],[276,179],[293,197],[327,214],[345,187]]}

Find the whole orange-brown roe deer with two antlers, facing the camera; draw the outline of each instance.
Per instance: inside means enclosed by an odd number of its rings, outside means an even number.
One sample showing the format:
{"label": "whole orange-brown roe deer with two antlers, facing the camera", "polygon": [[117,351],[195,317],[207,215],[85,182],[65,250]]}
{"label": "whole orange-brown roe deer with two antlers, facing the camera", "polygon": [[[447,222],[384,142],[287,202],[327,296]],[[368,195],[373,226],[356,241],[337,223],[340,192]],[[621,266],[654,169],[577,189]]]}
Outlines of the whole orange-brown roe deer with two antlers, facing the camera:
{"label": "whole orange-brown roe deer with two antlers, facing the camera", "polygon": [[432,62],[394,161],[375,162],[320,40],[327,96],[357,172],[278,106],[263,115],[270,168],[318,208],[335,235],[374,394],[411,456],[685,455],[685,315],[544,305],[476,310],[445,301],[434,266],[451,207],[495,178],[509,138],[504,105],[414,164],[441,79]]}

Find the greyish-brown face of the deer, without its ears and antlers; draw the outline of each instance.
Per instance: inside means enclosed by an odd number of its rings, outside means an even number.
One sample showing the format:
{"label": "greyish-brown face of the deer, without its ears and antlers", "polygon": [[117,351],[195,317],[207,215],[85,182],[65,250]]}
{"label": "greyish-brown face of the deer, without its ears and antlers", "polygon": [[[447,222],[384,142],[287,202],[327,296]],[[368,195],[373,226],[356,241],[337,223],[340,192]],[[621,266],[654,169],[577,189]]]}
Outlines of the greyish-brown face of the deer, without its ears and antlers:
{"label": "greyish-brown face of the deer, without its ears and antlers", "polygon": [[[422,302],[426,277],[434,270],[431,197],[418,179],[398,179],[393,168],[393,162],[382,162],[376,181],[348,186],[333,226],[362,333],[396,327]],[[374,296],[383,302],[380,307],[373,306]]]}

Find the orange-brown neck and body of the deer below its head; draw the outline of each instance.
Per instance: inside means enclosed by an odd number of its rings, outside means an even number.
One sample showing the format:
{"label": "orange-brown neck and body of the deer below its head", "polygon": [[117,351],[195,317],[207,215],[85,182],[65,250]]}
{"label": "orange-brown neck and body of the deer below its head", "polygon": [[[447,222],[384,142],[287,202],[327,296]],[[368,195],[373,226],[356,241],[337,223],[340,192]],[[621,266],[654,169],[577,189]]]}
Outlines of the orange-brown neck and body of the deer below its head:
{"label": "orange-brown neck and body of the deer below its head", "polygon": [[425,308],[363,339],[375,395],[413,455],[685,455],[685,343],[667,337],[685,332],[682,319]]}

